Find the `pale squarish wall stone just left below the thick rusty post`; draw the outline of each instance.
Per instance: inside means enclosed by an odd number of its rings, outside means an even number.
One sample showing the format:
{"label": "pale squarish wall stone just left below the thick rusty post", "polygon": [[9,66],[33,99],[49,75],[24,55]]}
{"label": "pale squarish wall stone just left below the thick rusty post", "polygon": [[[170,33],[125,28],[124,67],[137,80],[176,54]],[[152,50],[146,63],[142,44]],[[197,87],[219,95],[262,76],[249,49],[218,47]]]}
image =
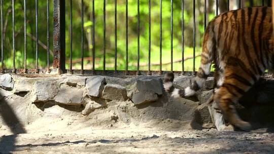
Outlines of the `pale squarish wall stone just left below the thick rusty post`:
{"label": "pale squarish wall stone just left below the thick rusty post", "polygon": [[32,102],[54,100],[58,91],[59,83],[53,81],[37,81],[33,86]]}

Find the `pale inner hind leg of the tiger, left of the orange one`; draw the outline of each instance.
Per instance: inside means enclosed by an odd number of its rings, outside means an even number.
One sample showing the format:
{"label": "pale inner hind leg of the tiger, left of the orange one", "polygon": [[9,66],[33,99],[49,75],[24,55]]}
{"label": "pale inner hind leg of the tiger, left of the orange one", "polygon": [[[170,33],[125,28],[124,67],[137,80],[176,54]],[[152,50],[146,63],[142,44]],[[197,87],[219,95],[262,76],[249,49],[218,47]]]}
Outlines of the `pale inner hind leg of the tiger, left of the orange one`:
{"label": "pale inner hind leg of the tiger, left of the orange one", "polygon": [[232,125],[226,126],[223,114],[213,98],[214,94],[212,94],[207,103],[212,122],[214,123],[216,129],[218,131],[234,131]]}

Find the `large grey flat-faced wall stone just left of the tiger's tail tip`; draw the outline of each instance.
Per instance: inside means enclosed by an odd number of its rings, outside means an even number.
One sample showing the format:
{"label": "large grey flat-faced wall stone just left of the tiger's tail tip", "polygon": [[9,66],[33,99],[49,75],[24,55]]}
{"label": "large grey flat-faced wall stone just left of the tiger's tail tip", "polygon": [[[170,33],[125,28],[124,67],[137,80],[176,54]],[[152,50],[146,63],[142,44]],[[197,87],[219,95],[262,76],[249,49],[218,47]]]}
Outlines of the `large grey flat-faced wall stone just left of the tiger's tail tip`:
{"label": "large grey flat-faced wall stone just left of the tiger's tail tip", "polygon": [[136,81],[136,90],[163,94],[162,82],[160,79],[139,79]]}

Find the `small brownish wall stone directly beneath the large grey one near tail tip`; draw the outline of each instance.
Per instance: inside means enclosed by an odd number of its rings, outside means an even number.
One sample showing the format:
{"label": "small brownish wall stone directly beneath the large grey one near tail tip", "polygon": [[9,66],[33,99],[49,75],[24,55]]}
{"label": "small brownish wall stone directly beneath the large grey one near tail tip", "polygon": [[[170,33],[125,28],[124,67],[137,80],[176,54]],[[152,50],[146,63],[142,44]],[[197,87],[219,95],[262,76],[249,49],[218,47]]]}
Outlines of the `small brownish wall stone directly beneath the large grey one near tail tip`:
{"label": "small brownish wall stone directly beneath the large grey one near tail tip", "polygon": [[158,95],[153,92],[137,92],[132,96],[132,101],[135,105],[142,103],[153,102],[158,100]]}

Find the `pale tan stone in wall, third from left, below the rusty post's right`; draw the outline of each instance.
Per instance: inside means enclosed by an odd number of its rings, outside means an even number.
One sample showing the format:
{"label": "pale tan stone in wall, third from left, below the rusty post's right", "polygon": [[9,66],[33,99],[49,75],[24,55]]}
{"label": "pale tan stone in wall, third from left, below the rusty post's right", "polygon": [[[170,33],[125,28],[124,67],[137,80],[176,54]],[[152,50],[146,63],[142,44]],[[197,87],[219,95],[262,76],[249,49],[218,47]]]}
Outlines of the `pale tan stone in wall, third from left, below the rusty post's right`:
{"label": "pale tan stone in wall, third from left, below the rusty post's right", "polygon": [[67,105],[80,105],[82,98],[82,89],[61,85],[59,92],[55,96],[55,101]]}

